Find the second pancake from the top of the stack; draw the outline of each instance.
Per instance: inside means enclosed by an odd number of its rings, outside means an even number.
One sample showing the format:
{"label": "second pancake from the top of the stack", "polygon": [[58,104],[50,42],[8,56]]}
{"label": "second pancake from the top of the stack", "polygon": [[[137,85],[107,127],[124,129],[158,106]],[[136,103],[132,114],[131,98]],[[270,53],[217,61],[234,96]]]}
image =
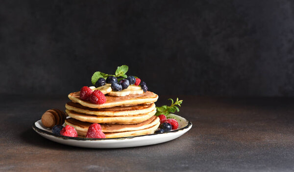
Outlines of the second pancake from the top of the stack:
{"label": "second pancake from the top of the stack", "polygon": [[136,105],[132,107],[88,108],[77,103],[68,102],[65,105],[65,108],[78,113],[97,116],[131,116],[148,113],[155,108],[155,104],[152,103],[148,105]]}

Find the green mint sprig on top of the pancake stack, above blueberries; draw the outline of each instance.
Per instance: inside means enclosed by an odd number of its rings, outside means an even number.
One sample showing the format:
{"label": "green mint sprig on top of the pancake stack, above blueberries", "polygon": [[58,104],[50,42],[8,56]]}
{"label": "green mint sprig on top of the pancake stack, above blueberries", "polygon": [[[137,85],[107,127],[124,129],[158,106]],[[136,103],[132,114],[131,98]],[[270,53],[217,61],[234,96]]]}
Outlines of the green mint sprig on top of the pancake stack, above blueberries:
{"label": "green mint sprig on top of the pancake stack, above blueberries", "polygon": [[106,79],[108,76],[121,77],[121,78],[119,78],[119,80],[122,80],[123,78],[127,77],[127,75],[125,74],[127,71],[128,71],[127,65],[118,66],[118,68],[115,71],[115,75],[109,75],[109,74],[97,71],[93,74],[93,76],[91,78],[91,82],[93,85],[95,85],[95,83],[98,81],[99,78]]}

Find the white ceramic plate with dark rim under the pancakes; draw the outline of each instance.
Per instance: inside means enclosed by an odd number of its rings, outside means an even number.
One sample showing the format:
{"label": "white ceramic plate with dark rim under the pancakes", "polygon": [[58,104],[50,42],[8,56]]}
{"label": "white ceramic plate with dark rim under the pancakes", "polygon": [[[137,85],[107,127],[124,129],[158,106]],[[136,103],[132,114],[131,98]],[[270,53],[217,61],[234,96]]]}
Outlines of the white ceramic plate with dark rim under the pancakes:
{"label": "white ceramic plate with dark rim under the pancakes", "polygon": [[89,139],[57,135],[52,133],[51,129],[44,127],[41,120],[36,121],[33,124],[32,128],[41,136],[65,145],[84,148],[127,148],[168,142],[183,135],[185,132],[192,128],[192,123],[189,120],[174,114],[169,114],[169,116],[174,117],[178,121],[178,129],[171,130],[165,133],[120,138]]}

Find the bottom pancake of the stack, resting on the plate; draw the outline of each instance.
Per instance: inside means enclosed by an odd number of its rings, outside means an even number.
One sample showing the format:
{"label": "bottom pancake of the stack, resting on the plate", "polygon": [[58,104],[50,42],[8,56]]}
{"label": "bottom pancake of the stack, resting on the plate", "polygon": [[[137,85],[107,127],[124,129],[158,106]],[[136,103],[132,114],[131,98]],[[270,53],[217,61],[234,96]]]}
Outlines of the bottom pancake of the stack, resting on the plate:
{"label": "bottom pancake of the stack, resting on the plate", "polygon": [[[104,132],[104,134],[105,134],[106,138],[128,137],[128,136],[152,134],[159,127],[159,125],[160,125],[160,122],[158,121],[154,126],[146,128],[146,129],[123,131],[123,132]],[[87,134],[87,131],[82,131],[82,130],[78,130],[78,129],[76,129],[76,131],[77,131],[77,134],[80,136],[86,136],[86,134]]]}

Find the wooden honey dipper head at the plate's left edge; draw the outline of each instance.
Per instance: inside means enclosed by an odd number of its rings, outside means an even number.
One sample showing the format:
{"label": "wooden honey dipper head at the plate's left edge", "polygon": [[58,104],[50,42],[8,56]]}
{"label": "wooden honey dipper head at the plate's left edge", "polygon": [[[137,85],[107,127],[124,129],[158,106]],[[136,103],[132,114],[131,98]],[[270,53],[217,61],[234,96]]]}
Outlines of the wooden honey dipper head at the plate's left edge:
{"label": "wooden honey dipper head at the plate's left edge", "polygon": [[41,118],[42,124],[45,127],[52,129],[55,125],[63,125],[64,120],[66,119],[66,113],[59,109],[49,109],[47,110]]}

